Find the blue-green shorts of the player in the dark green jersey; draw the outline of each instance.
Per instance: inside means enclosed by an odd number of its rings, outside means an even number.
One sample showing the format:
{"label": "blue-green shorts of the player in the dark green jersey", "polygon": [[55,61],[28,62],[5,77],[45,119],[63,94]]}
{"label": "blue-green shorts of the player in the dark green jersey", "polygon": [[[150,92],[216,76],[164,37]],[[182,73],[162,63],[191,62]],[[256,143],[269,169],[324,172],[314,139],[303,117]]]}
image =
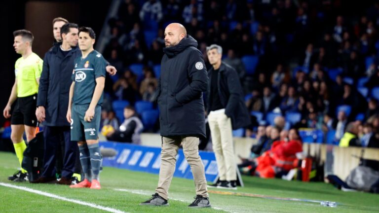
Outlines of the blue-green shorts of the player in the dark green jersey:
{"label": "blue-green shorts of the player in the dark green jersey", "polygon": [[101,106],[95,107],[95,115],[91,122],[84,121],[85,112],[89,104],[73,104],[71,110],[71,141],[98,140],[100,129]]}

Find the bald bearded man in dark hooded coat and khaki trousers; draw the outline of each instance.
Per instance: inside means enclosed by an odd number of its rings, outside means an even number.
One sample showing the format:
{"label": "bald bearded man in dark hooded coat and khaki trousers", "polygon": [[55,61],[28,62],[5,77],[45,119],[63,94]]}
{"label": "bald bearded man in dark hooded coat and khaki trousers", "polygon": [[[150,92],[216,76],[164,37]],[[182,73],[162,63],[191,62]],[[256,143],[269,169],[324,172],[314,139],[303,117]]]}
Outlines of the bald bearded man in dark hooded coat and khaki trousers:
{"label": "bald bearded man in dark hooded coat and khaki trousers", "polygon": [[208,76],[197,41],[187,35],[183,25],[172,23],[164,32],[165,48],[158,81],[161,165],[158,187],[140,205],[167,206],[168,189],[175,171],[180,144],[195,182],[196,197],[189,207],[210,207],[204,165],[198,152],[199,137],[205,138],[202,93]]}

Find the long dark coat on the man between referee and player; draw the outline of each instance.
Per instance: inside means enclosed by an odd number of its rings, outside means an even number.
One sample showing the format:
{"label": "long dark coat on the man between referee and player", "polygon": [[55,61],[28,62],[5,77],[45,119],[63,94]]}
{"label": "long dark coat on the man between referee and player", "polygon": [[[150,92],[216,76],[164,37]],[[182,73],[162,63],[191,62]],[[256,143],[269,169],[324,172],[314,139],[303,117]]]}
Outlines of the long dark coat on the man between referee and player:
{"label": "long dark coat on the man between referee and player", "polygon": [[70,126],[66,114],[69,106],[69,92],[73,80],[74,60],[81,56],[76,46],[64,56],[60,51],[62,43],[55,43],[43,58],[39,78],[37,106],[45,107],[46,126]]}

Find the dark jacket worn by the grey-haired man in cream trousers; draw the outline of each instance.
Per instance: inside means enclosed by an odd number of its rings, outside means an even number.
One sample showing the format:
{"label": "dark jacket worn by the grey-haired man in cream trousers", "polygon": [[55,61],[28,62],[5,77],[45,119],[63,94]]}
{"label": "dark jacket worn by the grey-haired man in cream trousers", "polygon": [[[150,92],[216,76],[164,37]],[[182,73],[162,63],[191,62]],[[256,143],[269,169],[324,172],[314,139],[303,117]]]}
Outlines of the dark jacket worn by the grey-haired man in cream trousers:
{"label": "dark jacket worn by the grey-haired man in cream trousers", "polygon": [[[208,71],[209,79],[212,79],[211,68]],[[243,91],[237,71],[224,62],[221,63],[217,77],[217,89],[221,104],[225,107],[225,114],[231,119],[233,130],[246,127],[251,124],[249,112],[245,106]],[[211,82],[208,84],[207,103],[210,103]],[[208,114],[209,114],[208,107]]]}

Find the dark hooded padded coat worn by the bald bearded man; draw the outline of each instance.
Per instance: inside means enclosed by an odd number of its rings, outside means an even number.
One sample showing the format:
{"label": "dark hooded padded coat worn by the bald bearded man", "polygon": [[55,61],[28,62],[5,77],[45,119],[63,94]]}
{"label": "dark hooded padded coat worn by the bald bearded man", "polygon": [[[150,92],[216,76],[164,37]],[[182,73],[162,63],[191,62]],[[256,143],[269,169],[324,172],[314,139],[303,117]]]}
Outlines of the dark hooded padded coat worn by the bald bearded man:
{"label": "dark hooded padded coat worn by the bald bearded man", "polygon": [[160,135],[205,138],[202,93],[207,90],[208,76],[197,41],[187,36],[163,52],[157,89]]}

